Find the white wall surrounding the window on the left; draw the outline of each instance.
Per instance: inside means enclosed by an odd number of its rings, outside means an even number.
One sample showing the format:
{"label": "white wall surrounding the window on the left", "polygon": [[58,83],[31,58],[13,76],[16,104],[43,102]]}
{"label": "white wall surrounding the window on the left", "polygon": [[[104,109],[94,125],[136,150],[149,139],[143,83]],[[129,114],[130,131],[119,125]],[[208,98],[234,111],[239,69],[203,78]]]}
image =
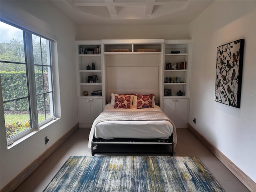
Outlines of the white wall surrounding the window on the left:
{"label": "white wall surrounding the window on the left", "polygon": [[[57,38],[60,120],[7,150],[1,96],[1,188],[77,124],[74,40],[76,25],[48,1],[1,1],[1,18]],[[58,115],[60,115],[58,113]],[[44,144],[44,137],[50,141]]]}

